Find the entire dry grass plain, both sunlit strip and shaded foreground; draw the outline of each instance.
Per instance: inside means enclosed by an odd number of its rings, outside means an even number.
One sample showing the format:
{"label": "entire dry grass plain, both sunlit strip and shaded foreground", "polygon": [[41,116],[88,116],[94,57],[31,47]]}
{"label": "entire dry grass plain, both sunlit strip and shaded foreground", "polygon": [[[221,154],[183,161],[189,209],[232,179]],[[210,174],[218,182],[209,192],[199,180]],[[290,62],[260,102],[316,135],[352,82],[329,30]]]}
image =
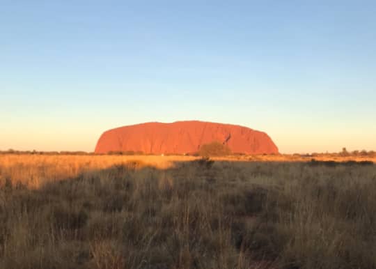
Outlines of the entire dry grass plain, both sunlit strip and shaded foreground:
{"label": "entire dry grass plain, both sunlit strip and shaded foreground", "polygon": [[0,268],[376,268],[375,165],[279,157],[0,155]]}

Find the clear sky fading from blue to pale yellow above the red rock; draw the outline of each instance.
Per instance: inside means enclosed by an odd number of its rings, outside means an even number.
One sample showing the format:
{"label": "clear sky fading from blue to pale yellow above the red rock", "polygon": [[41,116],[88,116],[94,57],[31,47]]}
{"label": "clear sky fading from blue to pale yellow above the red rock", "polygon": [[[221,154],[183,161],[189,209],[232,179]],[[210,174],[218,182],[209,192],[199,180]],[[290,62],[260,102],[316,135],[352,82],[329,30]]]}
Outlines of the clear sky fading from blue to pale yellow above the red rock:
{"label": "clear sky fading from blue to pale yellow above the red rock", "polygon": [[376,1],[0,0],[0,150],[201,120],[376,150]]}

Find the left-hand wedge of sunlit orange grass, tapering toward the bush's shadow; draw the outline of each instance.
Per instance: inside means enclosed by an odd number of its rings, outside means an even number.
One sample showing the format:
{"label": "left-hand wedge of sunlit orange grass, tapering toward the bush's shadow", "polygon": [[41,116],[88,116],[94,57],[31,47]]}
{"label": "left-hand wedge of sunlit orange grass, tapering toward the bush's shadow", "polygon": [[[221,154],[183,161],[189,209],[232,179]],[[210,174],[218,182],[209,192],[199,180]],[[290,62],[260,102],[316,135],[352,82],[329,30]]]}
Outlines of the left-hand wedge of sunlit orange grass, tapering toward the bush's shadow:
{"label": "left-hand wedge of sunlit orange grass, tapering toward the bush's shadow", "polygon": [[0,178],[12,178],[31,188],[56,180],[74,178],[84,171],[101,170],[113,165],[134,164],[167,169],[175,162],[196,160],[191,156],[157,155],[0,155]]}

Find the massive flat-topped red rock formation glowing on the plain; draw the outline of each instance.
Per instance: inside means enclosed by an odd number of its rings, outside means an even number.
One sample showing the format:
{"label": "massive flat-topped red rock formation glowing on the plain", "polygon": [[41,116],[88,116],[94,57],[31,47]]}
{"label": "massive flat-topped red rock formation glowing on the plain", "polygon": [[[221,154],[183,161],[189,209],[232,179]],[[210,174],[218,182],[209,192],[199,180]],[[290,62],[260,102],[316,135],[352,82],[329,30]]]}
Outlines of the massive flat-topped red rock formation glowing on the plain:
{"label": "massive flat-topped red rock formation glowing on the plain", "polygon": [[240,125],[203,121],[141,123],[111,129],[101,135],[95,153],[196,153],[202,145],[212,141],[226,144],[233,153],[278,153],[278,148],[265,132]]}

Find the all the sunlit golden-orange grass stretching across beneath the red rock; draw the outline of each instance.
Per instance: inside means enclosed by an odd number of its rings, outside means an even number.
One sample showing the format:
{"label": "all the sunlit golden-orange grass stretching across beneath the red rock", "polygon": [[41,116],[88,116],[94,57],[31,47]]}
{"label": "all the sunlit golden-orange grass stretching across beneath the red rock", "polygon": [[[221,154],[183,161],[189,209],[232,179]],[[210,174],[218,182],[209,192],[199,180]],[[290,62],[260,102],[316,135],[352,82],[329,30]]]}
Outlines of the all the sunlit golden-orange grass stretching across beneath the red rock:
{"label": "all the sunlit golden-orange grass stretching across beneath the red rock", "polygon": [[[178,162],[190,162],[201,157],[182,155],[0,155],[2,176],[5,174],[28,187],[39,187],[43,183],[75,177],[84,171],[107,169],[113,165],[134,164],[139,168],[155,167],[169,169]],[[313,157],[296,155],[235,155],[226,157],[212,157],[221,162],[310,162]],[[367,156],[319,156],[318,161],[370,161],[376,163],[376,157]]]}

